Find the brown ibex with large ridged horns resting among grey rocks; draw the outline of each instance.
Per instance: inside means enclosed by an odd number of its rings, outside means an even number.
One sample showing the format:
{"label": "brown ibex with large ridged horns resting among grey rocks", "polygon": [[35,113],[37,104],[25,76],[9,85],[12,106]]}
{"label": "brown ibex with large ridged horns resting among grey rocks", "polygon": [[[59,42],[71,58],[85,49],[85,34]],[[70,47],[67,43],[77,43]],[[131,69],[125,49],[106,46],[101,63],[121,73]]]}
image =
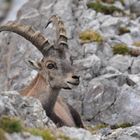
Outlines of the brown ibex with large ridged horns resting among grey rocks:
{"label": "brown ibex with large ridged horns resting among grey rocks", "polygon": [[[64,23],[58,16],[48,22],[56,26],[56,41],[50,45],[48,39],[31,26],[10,22],[0,26],[0,31],[11,31],[30,41],[42,54],[40,62],[30,60],[30,65],[38,71],[31,84],[21,94],[39,99],[43,108],[58,126],[84,127],[80,115],[69,104],[58,97],[61,89],[72,89],[79,85],[79,76],[74,73],[68,53],[68,43]],[[47,24],[47,25],[48,25]]]}

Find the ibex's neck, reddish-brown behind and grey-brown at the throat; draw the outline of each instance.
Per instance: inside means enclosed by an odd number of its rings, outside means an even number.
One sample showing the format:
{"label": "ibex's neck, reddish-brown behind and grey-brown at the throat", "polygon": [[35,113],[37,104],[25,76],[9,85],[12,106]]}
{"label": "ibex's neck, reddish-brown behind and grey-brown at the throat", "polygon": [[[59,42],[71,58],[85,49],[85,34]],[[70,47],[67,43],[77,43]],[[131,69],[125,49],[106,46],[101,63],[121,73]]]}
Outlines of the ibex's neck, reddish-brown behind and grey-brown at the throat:
{"label": "ibex's neck, reddish-brown behind and grey-brown at the throat", "polygon": [[49,116],[54,108],[60,89],[51,88],[46,80],[38,74],[31,84],[21,94],[39,99]]}

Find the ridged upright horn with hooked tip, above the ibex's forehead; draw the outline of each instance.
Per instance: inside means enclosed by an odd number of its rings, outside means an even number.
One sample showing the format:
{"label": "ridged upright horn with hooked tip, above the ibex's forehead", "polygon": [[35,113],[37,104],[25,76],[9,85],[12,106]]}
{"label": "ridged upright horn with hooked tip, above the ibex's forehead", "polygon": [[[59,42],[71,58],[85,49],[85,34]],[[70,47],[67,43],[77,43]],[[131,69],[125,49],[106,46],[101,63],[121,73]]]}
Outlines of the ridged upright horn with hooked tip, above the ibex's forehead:
{"label": "ridged upright horn with hooked tip, above the ibex's forehead", "polygon": [[56,27],[56,36],[57,36],[56,43],[58,47],[60,46],[68,47],[66,29],[65,29],[62,19],[57,15],[53,15],[49,19],[45,28],[47,28],[50,23],[53,23]]}

